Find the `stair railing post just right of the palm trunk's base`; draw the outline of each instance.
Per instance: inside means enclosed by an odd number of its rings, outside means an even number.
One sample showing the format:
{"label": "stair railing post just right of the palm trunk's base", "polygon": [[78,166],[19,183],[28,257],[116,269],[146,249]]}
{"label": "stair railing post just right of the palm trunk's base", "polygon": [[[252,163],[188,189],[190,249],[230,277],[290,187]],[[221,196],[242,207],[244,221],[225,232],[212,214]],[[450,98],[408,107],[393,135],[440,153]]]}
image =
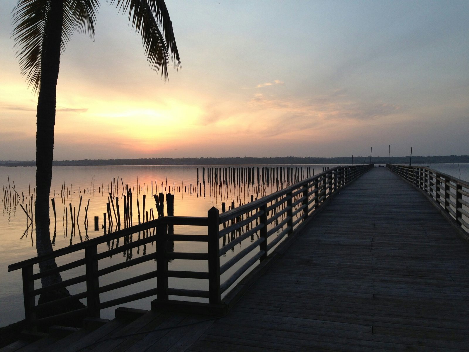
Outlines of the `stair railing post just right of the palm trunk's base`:
{"label": "stair railing post just right of the palm trunk's base", "polygon": [[99,318],[98,245],[85,248],[86,302],[88,315]]}

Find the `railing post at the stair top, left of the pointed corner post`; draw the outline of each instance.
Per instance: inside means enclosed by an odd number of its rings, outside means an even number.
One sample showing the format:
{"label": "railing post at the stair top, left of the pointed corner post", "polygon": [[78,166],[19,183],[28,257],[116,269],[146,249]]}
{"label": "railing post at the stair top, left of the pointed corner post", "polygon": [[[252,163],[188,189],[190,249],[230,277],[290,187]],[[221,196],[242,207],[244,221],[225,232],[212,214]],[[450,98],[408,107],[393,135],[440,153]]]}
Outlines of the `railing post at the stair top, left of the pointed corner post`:
{"label": "railing post at the stair top, left of the pointed corner post", "polygon": [[168,299],[168,261],[166,260],[166,236],[168,225],[158,222],[156,225],[156,270],[157,299]]}

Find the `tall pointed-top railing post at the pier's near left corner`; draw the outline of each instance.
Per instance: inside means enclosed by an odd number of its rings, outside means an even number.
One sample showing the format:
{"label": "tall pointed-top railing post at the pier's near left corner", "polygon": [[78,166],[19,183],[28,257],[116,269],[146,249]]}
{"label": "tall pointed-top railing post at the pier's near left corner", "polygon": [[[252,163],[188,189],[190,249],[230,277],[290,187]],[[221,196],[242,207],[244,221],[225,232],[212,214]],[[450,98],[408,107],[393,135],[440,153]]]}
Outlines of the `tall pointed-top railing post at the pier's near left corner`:
{"label": "tall pointed-top railing post at the pier's near left corner", "polygon": [[220,291],[220,241],[219,241],[219,211],[216,207],[210,208],[208,219],[208,286],[209,303],[221,302]]}

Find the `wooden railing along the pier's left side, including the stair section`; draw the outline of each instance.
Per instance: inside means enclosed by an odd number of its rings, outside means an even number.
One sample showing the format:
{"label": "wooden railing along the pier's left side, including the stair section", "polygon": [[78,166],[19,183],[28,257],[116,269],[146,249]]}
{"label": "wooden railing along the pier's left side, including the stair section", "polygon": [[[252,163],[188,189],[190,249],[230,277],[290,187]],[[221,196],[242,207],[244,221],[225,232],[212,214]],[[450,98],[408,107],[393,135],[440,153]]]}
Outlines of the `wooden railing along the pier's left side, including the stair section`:
{"label": "wooden railing along the pier's left side, including the stair section", "polygon": [[[33,328],[82,316],[99,317],[102,309],[151,296],[156,296],[152,306],[178,302],[187,306],[189,300],[197,305],[199,311],[213,312],[217,307],[226,306],[222,299],[257,262],[274,253],[285,236],[292,234],[336,191],[371,167],[372,164],[331,168],[222,214],[212,207],[207,217],[160,217],[11,264],[8,271],[22,270],[25,318]],[[174,234],[176,229],[181,233]],[[178,241],[193,242],[193,247],[199,249],[196,243],[203,243],[205,249],[193,253],[178,252]],[[234,248],[241,249],[234,254]],[[133,256],[132,251],[137,251],[138,255]],[[232,254],[229,259],[226,256],[228,252]],[[115,263],[115,257],[122,253],[126,260]],[[39,272],[38,263],[47,260],[55,261],[57,266]],[[175,260],[184,263],[188,263],[185,260],[189,263],[192,260],[203,261],[205,264],[201,267],[207,270],[194,270],[190,264],[184,266],[184,270],[177,270],[181,269],[180,266],[173,268],[168,265],[168,261]],[[132,275],[137,270],[134,269],[136,266],[140,269]],[[142,274],[142,271],[145,272]],[[35,281],[57,274],[61,274],[61,282],[35,288]],[[110,282],[109,275],[115,279],[113,282]],[[178,288],[174,285],[175,279],[202,280],[205,289]],[[132,285],[136,286],[129,294]],[[194,287],[193,284],[188,286]],[[37,304],[39,295],[66,289],[78,293]],[[104,297],[107,300],[103,301]],[[86,307],[53,316],[44,313],[83,299],[86,299]]]}

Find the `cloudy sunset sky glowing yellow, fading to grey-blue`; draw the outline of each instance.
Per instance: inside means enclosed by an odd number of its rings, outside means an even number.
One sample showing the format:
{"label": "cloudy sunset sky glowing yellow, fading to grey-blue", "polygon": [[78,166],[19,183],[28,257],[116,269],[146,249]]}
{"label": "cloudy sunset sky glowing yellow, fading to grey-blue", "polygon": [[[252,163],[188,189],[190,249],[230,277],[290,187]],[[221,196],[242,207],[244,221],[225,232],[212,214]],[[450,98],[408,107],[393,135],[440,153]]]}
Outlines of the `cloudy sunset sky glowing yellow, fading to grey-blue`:
{"label": "cloudy sunset sky glowing yellow, fading to grey-blue", "polygon": [[[37,95],[0,2],[0,160],[34,160]],[[54,160],[469,154],[469,1],[166,0],[153,71],[105,0],[61,56]]]}

